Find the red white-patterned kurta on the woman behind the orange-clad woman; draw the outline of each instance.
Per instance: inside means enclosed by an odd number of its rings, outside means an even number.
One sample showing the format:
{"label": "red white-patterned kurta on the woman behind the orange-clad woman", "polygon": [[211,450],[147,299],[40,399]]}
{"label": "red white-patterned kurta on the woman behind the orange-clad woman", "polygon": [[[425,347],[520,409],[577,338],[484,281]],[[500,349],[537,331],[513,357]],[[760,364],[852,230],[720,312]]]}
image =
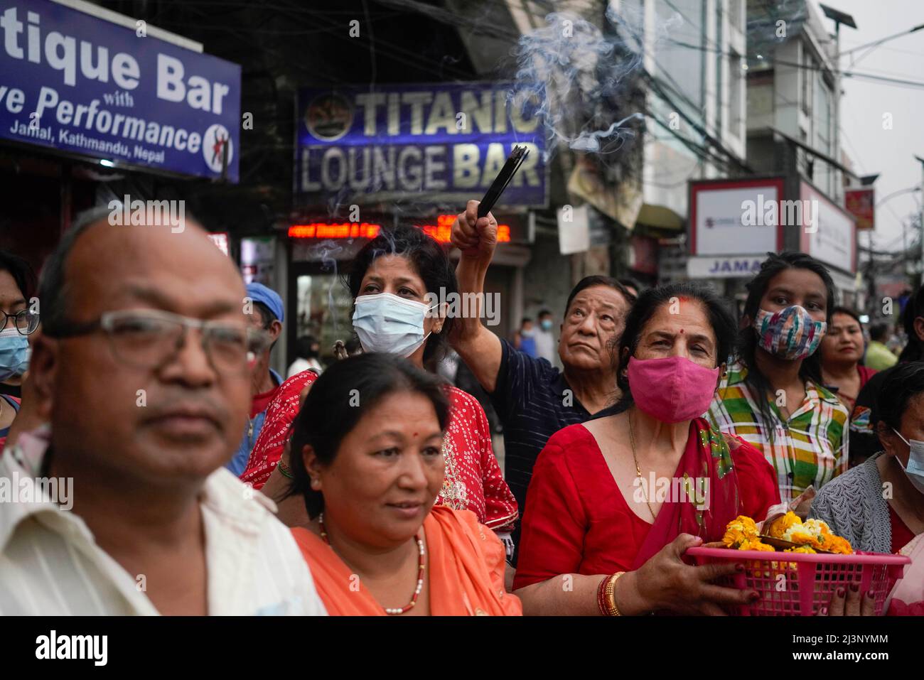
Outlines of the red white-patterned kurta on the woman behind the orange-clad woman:
{"label": "red white-patterned kurta on the woman behind the orange-clad woman", "polygon": [[[298,415],[298,393],[313,382],[314,373],[292,376],[270,402],[260,436],[253,444],[247,469],[240,479],[260,489],[283,455],[292,422]],[[443,443],[446,476],[438,504],[471,510],[478,521],[494,530],[509,530],[517,519],[517,500],[510,492],[491,445],[491,428],[478,400],[452,385],[449,427]]]}

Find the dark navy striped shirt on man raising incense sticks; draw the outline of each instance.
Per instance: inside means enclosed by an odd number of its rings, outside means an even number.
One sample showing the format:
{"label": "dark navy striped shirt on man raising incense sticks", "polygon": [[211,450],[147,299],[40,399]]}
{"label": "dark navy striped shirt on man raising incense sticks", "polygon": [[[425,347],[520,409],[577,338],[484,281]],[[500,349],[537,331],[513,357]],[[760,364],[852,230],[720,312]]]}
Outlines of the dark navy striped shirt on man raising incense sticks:
{"label": "dark navy striped shirt on man raising incense sticks", "polygon": [[[504,477],[517,497],[522,517],[532,467],[549,437],[568,425],[617,410],[607,407],[589,413],[577,401],[561,370],[544,358],[517,351],[506,340],[501,340],[501,346],[503,357],[491,402],[504,424]],[[613,388],[615,391],[615,385]]]}

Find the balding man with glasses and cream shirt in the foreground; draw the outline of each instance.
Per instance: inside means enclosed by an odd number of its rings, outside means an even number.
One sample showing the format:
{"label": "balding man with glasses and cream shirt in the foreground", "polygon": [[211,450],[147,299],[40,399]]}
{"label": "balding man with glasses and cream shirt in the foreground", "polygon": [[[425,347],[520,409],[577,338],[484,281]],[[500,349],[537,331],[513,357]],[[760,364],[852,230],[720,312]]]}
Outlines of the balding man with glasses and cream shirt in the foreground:
{"label": "balding man with glasses and cream shirt in the foreground", "polygon": [[324,613],[273,504],[223,468],[265,335],[188,226],[91,216],[44,267],[29,382],[50,428],[0,458],[40,492],[0,504],[0,613]]}

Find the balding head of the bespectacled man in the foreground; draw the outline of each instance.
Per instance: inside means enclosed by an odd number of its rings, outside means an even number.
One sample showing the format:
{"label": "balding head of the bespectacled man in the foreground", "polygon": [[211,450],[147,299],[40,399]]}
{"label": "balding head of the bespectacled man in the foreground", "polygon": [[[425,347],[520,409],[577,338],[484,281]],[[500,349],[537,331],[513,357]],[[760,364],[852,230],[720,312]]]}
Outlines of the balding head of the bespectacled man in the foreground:
{"label": "balding head of the bespectacled man in the foreground", "polygon": [[[67,233],[40,285],[31,375],[55,457],[88,474],[201,483],[247,422],[249,364],[234,344],[248,328],[244,283],[200,225],[113,225],[106,214]],[[117,329],[103,323],[114,312]]]}

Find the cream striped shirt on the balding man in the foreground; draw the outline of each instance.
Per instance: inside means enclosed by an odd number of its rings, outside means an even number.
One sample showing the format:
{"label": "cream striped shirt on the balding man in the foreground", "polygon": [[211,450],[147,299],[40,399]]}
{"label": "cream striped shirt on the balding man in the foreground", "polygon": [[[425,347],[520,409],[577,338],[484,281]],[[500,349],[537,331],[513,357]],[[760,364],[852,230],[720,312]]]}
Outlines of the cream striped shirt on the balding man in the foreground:
{"label": "cream striped shirt on the balding man in the foreground", "polygon": [[[157,614],[143,577],[96,544],[66,499],[59,507],[36,483],[45,445],[24,434],[0,456],[0,615]],[[200,499],[210,614],[326,613],[272,501],[224,468],[204,481]]]}

